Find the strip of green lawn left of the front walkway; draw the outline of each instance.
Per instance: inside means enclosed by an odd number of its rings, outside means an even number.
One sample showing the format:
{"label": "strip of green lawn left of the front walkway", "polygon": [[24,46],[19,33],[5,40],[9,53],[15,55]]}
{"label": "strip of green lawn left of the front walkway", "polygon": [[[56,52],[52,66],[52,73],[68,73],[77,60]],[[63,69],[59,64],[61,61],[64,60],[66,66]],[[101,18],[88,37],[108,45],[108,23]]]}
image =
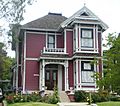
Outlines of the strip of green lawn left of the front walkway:
{"label": "strip of green lawn left of the front walkway", "polygon": [[9,104],[8,106],[57,106],[57,105],[40,103],[40,102],[26,102],[26,103]]}

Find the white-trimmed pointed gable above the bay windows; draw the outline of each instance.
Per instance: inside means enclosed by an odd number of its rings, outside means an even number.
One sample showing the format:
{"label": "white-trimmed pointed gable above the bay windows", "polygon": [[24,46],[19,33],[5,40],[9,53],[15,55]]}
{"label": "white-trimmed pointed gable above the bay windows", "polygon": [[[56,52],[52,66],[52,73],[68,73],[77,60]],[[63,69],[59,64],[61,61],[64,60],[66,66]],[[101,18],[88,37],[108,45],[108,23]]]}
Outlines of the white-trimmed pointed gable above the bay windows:
{"label": "white-trimmed pointed gable above the bay windows", "polygon": [[70,23],[78,19],[87,20],[87,21],[88,20],[96,21],[97,24],[99,24],[104,30],[108,29],[108,26],[99,17],[97,17],[91,10],[89,10],[86,6],[84,6],[82,9],[80,9],[75,14],[73,14],[70,18],[62,22],[60,26],[64,28],[68,26]]}

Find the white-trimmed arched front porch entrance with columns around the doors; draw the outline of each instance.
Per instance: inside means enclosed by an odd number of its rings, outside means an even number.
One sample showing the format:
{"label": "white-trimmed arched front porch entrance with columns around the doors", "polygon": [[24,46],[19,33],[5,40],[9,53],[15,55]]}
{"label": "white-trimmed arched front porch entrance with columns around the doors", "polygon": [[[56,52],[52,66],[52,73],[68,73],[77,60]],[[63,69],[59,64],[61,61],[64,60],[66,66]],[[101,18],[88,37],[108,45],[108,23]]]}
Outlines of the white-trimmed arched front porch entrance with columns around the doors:
{"label": "white-trimmed arched front porch entrance with columns around the doors", "polygon": [[68,60],[42,59],[40,60],[40,91],[53,90],[68,91]]}

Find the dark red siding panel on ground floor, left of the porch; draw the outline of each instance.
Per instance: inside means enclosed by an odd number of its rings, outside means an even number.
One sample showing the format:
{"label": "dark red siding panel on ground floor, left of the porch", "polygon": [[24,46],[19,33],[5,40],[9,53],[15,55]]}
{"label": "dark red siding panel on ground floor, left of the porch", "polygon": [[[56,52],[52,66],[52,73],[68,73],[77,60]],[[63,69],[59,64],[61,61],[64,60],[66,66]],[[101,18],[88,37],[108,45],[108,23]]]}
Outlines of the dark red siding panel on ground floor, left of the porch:
{"label": "dark red siding panel on ground floor, left of the porch", "polygon": [[26,61],[26,79],[25,89],[26,90],[38,90],[39,89],[39,63],[38,61]]}

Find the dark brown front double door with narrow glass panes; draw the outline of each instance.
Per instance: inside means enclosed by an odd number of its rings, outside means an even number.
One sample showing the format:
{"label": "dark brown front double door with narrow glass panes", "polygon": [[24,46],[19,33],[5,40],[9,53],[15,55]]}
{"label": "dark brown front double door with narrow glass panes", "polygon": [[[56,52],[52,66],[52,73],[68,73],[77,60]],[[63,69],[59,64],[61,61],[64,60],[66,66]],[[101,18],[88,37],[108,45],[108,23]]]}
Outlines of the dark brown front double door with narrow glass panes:
{"label": "dark brown front double door with narrow glass panes", "polygon": [[53,90],[54,86],[57,86],[57,70],[46,70],[45,71],[45,86],[47,90]]}

